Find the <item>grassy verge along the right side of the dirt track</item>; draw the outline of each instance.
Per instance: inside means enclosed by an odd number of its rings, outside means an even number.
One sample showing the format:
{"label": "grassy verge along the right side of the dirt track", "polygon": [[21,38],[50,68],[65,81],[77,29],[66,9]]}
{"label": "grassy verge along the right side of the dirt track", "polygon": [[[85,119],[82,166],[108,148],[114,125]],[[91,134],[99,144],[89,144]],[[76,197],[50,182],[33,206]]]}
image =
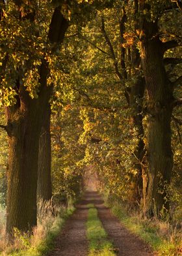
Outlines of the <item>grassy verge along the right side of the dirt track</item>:
{"label": "grassy verge along the right side of the dirt track", "polygon": [[117,202],[109,206],[123,225],[148,242],[157,255],[182,255],[182,234],[179,229],[157,218],[148,219],[139,213],[128,214]]}

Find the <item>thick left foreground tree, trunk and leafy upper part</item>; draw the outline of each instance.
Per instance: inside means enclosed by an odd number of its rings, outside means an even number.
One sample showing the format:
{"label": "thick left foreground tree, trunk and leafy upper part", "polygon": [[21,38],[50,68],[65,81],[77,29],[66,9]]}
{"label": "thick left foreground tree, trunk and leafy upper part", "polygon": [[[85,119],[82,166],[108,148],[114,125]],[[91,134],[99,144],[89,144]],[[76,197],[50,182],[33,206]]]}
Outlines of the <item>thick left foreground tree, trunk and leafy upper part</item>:
{"label": "thick left foreground tree, trunk and leafy upper part", "polygon": [[[14,227],[21,231],[28,231],[36,225],[38,146],[44,112],[49,104],[51,94],[51,87],[47,86],[49,63],[46,60],[44,43],[43,49],[41,49],[42,45],[38,42],[40,33],[36,30],[38,25],[42,24],[41,22],[38,24],[38,20],[36,20],[36,2],[27,4],[23,1],[15,2],[15,4],[14,2],[8,3],[6,5],[7,17],[2,21],[5,25],[8,25],[14,20],[16,28],[19,29],[18,35],[16,31],[13,33],[16,52],[12,52],[12,48],[10,48],[12,45],[8,46],[5,39],[7,47],[5,56],[8,56],[8,60],[4,81],[8,82],[8,69],[12,69],[10,75],[15,76],[11,80],[12,88],[14,88],[12,91],[16,95],[16,102],[12,106],[6,107],[7,125],[5,129],[8,133],[9,144],[6,221],[8,233],[11,233]],[[68,27],[68,21],[64,18],[60,9],[61,6],[55,8],[49,25],[47,39],[53,44],[62,42]],[[26,39],[25,35],[27,35]],[[42,39],[42,37],[40,38]],[[36,43],[39,47],[35,49],[40,50],[40,52],[28,53],[30,47],[33,47]],[[18,59],[18,47],[22,51],[20,55],[22,59]],[[49,49],[53,50],[52,46]],[[34,54],[34,56],[31,54]],[[13,61],[16,61],[16,65],[13,65]],[[34,76],[38,77],[37,80]],[[11,88],[8,87],[8,89]]]}

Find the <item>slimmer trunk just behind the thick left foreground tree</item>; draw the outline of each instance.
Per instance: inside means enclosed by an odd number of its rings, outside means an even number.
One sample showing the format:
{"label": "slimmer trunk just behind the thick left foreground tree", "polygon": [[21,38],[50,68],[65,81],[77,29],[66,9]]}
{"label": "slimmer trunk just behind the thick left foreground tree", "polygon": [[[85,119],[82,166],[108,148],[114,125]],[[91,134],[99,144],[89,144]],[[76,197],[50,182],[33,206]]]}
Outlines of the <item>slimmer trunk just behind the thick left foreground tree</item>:
{"label": "slimmer trunk just behind the thick left foreground tree", "polygon": [[52,197],[50,116],[51,108],[48,105],[41,129],[38,155],[37,195],[38,199],[43,200],[50,200]]}

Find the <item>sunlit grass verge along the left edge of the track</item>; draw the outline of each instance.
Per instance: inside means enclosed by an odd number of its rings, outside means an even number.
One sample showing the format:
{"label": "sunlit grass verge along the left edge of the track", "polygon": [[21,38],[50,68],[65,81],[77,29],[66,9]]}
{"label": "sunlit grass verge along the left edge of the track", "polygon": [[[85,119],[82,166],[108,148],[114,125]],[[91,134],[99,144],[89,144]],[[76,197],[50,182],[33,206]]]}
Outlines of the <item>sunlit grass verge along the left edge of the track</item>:
{"label": "sunlit grass verge along the left edge of the track", "polygon": [[[50,221],[47,216],[43,223],[38,224],[34,229],[32,236],[27,234],[17,233],[15,242],[12,245],[8,245],[5,251],[0,253],[1,256],[43,256],[46,255],[51,249],[54,248],[55,238],[59,235],[59,232],[64,225],[64,222],[70,217],[75,208],[64,209],[56,217],[53,217],[53,221]],[[49,222],[50,221],[50,222]],[[45,231],[45,225],[46,231]],[[49,226],[49,227],[48,227]],[[20,249],[21,248],[21,249]]]}

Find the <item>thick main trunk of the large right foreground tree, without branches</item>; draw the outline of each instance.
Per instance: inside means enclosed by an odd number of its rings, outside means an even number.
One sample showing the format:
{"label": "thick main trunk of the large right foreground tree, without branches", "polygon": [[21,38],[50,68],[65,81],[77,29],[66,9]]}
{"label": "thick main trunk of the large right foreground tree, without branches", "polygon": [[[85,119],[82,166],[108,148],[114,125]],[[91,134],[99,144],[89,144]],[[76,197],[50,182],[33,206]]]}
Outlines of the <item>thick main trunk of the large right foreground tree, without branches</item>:
{"label": "thick main trunk of the large right foreground tree, without branches", "polygon": [[173,167],[171,148],[172,89],[163,63],[157,22],[142,23],[140,54],[148,92],[148,205],[149,215],[168,208],[166,185]]}

